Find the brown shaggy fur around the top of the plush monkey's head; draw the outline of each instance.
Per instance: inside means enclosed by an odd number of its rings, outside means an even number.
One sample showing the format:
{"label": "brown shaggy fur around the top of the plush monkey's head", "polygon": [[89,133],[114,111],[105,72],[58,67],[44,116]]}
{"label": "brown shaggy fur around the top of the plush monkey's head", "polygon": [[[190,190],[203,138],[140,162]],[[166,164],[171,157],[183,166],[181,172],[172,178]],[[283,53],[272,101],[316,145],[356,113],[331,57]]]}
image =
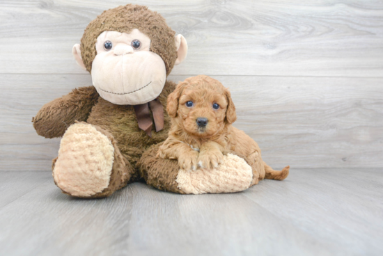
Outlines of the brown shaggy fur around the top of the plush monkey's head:
{"label": "brown shaggy fur around the top of the plush monkey's head", "polygon": [[91,23],[88,24],[81,39],[81,57],[86,70],[91,72],[92,62],[97,51],[95,38],[104,31],[118,31],[130,33],[139,29],[151,39],[150,51],[158,54],[164,60],[166,75],[169,75],[175,59],[175,32],[166,24],[164,17],[159,13],[148,10],[146,6],[127,4],[114,9],[104,10]]}

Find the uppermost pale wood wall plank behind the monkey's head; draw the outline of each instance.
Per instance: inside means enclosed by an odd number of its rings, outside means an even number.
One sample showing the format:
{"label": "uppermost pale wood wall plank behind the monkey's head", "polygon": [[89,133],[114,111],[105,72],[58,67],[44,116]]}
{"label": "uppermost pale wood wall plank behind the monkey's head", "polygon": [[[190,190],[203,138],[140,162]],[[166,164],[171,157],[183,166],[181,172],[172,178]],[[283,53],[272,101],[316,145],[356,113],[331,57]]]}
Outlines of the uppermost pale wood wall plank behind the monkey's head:
{"label": "uppermost pale wood wall plank behind the monkey's head", "polygon": [[[382,77],[382,1],[130,1],[187,38],[173,74]],[[0,3],[0,72],[85,74],[72,58],[86,25],[126,1]]]}

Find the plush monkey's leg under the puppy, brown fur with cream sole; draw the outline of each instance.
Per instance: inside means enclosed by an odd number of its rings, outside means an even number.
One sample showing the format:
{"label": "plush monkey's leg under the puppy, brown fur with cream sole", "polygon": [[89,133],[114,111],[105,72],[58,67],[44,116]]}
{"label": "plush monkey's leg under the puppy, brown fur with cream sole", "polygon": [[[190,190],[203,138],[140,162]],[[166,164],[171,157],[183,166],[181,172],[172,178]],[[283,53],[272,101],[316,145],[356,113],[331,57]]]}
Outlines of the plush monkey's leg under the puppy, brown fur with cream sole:
{"label": "plush monkey's leg under the puppy, brown fur with cream sole", "polygon": [[251,166],[235,154],[226,154],[221,164],[212,170],[180,170],[177,160],[159,159],[162,145],[153,145],[137,163],[141,177],[150,186],[175,193],[232,193],[248,189],[253,180]]}

